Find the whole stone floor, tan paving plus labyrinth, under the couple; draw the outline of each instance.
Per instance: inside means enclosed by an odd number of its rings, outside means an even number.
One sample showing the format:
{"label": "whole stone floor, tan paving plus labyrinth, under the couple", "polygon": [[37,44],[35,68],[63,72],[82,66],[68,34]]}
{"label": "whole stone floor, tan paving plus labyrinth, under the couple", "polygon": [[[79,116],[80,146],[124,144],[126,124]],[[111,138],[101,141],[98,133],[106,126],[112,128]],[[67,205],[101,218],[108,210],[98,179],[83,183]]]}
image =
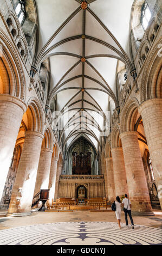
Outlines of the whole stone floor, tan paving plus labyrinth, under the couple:
{"label": "whole stone floor, tan paving plus labyrinth, under the couple", "polygon": [[0,245],[162,245],[162,211],[154,214],[133,216],[132,229],[125,227],[122,212],[120,230],[114,212],[33,212],[7,218],[0,211]]}

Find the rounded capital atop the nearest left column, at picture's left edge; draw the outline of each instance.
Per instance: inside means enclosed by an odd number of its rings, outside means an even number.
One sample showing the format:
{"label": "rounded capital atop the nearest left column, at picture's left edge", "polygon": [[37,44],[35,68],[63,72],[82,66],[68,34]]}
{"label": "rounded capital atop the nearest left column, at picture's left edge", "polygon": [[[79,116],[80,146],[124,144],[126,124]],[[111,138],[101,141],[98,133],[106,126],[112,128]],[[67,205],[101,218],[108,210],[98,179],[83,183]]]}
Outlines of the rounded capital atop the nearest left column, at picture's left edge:
{"label": "rounded capital atop the nearest left column, at picture's left edge", "polygon": [[23,109],[23,113],[27,111],[27,105],[18,97],[15,97],[9,94],[0,94],[0,102],[2,101],[16,104],[17,106]]}

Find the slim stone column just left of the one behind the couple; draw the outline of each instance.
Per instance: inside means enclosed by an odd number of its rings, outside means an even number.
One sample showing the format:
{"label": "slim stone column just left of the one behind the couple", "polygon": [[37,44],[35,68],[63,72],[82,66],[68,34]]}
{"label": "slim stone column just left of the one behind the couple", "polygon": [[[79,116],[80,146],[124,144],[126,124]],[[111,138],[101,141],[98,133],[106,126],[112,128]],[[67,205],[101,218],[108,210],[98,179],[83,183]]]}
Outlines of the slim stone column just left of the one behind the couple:
{"label": "slim stone column just left of the one behind the couple", "polygon": [[113,202],[115,200],[115,184],[114,184],[112,157],[106,157],[106,172],[107,172],[108,200]]}

